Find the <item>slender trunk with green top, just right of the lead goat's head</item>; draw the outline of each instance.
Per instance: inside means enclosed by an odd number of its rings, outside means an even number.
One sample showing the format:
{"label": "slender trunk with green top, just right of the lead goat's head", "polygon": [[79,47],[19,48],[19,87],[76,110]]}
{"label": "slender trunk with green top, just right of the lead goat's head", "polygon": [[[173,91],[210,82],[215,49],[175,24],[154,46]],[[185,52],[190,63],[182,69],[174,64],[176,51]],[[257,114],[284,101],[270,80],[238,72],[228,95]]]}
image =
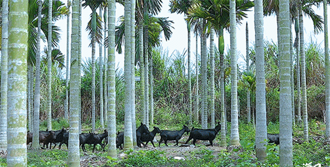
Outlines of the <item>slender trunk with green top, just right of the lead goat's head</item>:
{"label": "slender trunk with green top, just right of the lead goat's head", "polygon": [[223,50],[225,49],[225,41],[223,40],[223,28],[220,27],[219,31],[219,54],[220,54],[220,111],[221,111],[221,143],[220,146],[227,146],[227,141],[225,138],[225,131],[227,129],[226,115],[225,115],[225,74],[223,65]]}

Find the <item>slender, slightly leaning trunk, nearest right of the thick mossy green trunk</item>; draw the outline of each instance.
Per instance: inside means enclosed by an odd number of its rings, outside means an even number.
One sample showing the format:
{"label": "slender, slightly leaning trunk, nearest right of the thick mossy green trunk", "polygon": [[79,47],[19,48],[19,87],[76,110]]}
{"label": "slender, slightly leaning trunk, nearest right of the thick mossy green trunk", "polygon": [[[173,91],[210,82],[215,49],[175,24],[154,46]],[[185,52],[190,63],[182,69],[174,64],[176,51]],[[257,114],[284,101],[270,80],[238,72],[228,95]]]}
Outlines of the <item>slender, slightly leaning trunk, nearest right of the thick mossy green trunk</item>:
{"label": "slender, slightly leaning trunk, nearest right of the thick mossy green trunk", "polygon": [[40,36],[41,36],[41,10],[42,1],[38,1],[38,34],[36,43],[36,86],[34,89],[34,109],[33,109],[33,138],[32,138],[32,148],[39,149],[39,111],[40,111]]}

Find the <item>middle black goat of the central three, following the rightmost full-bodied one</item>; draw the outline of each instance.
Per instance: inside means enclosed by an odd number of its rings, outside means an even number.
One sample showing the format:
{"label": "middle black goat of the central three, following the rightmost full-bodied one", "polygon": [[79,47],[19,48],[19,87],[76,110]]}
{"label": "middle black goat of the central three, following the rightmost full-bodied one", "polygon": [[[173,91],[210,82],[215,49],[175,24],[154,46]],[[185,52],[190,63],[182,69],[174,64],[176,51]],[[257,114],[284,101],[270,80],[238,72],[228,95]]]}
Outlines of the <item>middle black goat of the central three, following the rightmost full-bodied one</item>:
{"label": "middle black goat of the central three, following the rightmost full-bodied one", "polygon": [[166,146],[168,146],[167,145],[168,140],[175,140],[177,142],[177,144],[175,144],[174,146],[177,146],[179,144],[179,140],[181,139],[181,136],[185,132],[187,132],[187,133],[190,132],[190,129],[186,125],[184,125],[184,128],[181,129],[180,131],[167,131],[167,130],[162,131],[160,133],[159,146],[163,142],[163,140],[164,140],[164,143]]}

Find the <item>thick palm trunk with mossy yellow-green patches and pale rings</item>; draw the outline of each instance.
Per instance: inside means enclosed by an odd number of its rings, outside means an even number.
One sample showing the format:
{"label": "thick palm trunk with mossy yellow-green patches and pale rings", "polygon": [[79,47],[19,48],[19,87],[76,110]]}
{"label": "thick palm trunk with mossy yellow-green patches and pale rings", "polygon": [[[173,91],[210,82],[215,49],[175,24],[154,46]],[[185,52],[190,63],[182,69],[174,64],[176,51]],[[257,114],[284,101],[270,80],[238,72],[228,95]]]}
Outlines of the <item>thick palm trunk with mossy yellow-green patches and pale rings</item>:
{"label": "thick palm trunk with mossy yellow-green patches and pale rings", "polygon": [[8,20],[8,166],[27,166],[28,1],[10,1]]}

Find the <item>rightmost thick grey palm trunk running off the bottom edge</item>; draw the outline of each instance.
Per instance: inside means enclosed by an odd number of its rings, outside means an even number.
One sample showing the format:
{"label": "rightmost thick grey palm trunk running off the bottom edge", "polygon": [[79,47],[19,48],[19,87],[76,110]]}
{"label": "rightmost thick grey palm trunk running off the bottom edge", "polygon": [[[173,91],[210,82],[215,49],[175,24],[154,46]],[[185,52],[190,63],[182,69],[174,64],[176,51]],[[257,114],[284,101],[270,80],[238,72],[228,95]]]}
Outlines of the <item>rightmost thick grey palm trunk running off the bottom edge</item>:
{"label": "rightmost thick grey palm trunk running off the bottom edge", "polygon": [[280,54],[280,166],[292,164],[292,104],[290,82],[290,18],[289,0],[279,2],[280,30],[278,51]]}

